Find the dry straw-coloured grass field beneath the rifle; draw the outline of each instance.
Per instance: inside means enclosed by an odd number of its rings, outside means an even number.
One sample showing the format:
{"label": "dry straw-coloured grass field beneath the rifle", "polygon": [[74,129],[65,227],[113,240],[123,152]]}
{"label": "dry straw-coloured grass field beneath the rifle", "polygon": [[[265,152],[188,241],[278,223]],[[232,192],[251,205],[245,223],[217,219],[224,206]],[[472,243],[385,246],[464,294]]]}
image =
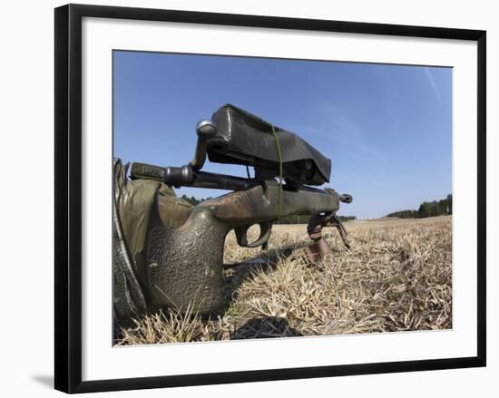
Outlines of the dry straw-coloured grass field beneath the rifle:
{"label": "dry straw-coloured grass field beneath the rifle", "polygon": [[[169,310],[122,328],[118,345],[452,327],[452,218],[349,222],[352,249],[336,230],[332,253],[308,264],[305,226],[276,226],[264,260],[231,234],[225,262],[227,310],[201,319]],[[256,232],[255,232],[256,233]],[[289,256],[286,248],[298,248]]]}

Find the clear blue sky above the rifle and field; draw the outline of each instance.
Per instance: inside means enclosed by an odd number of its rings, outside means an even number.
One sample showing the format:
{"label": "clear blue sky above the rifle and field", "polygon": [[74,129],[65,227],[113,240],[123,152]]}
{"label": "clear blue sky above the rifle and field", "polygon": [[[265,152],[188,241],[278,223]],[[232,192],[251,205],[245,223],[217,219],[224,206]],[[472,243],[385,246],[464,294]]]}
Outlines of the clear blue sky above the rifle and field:
{"label": "clear blue sky above the rifle and field", "polygon": [[[452,192],[452,69],[230,56],[113,54],[114,156],[191,160],[195,125],[232,103],[297,133],[353,195],[339,214],[382,217]],[[203,170],[246,176],[236,165]],[[182,188],[197,198],[224,191]]]}

